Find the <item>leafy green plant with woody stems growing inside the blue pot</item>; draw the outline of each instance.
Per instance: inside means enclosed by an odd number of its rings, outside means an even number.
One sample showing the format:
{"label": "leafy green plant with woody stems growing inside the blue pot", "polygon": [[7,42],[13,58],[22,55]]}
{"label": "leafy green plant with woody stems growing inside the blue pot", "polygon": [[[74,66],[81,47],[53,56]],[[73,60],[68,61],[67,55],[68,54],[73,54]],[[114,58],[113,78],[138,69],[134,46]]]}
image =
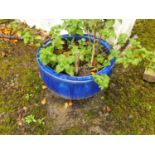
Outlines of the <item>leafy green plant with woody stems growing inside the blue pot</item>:
{"label": "leafy green plant with woody stems growing inside the blue pot", "polygon": [[[96,60],[99,62],[98,68],[102,68],[107,64],[104,59],[104,55],[96,53],[95,51],[103,51],[99,44],[99,40],[96,39],[99,35],[101,37],[101,28],[104,26],[112,31],[112,25],[114,20],[64,20],[62,25],[54,26],[51,28],[50,35],[52,37],[52,44],[49,47],[42,48],[40,51],[40,60],[44,65],[50,65],[56,72],[65,72],[69,75],[78,75],[80,64],[84,64],[87,67],[94,66],[94,58],[99,54]],[[65,29],[69,35],[73,37],[71,41],[63,40],[60,32]],[[75,35],[82,35],[85,31],[93,33],[94,41],[86,41],[81,39],[75,40]],[[63,47],[67,42],[68,48],[63,52]],[[58,51],[58,54],[56,53]],[[96,54],[96,55],[95,55]],[[101,60],[103,58],[103,61]],[[105,62],[105,63],[104,63]]]}

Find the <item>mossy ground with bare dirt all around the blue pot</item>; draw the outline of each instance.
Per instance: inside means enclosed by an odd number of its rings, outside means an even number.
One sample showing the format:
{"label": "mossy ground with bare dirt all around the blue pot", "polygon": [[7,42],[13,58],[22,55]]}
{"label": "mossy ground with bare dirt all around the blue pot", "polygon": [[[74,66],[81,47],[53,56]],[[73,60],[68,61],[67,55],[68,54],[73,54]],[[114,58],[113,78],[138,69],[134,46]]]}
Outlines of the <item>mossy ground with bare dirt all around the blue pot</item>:
{"label": "mossy ground with bare dirt all around the blue pot", "polygon": [[[153,26],[155,20],[139,20],[134,28],[150,50]],[[36,48],[22,42],[0,42],[0,134],[155,134],[155,84],[142,80],[143,63],[116,66],[105,92],[66,109],[66,100],[41,89],[35,54]],[[25,123],[30,114],[45,124]]]}

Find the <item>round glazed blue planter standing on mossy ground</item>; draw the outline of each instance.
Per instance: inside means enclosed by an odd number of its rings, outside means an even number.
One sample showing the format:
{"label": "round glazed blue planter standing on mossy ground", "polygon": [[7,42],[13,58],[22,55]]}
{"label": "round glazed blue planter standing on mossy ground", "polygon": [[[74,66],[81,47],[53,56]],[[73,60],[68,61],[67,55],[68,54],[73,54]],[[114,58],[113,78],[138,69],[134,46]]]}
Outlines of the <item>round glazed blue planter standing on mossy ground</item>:
{"label": "round glazed blue planter standing on mossy ground", "polygon": [[[72,39],[72,37],[69,35],[62,35],[62,37],[69,40]],[[93,41],[93,36],[91,35],[76,36],[76,40],[79,40],[81,38]],[[107,50],[106,52],[108,52],[111,48],[110,45],[102,39],[99,39],[99,41],[103,48]],[[52,68],[41,63],[39,58],[40,49],[48,46],[48,44],[50,44],[51,42],[51,40],[45,41],[42,47],[40,47],[37,51],[37,62],[40,68],[40,75],[47,87],[57,95],[71,100],[85,99],[99,92],[100,89],[98,85],[93,81],[91,75],[69,76],[66,74],[56,73]],[[113,58],[111,59],[111,64],[101,69],[97,74],[107,74],[110,76],[114,64],[115,59]]]}

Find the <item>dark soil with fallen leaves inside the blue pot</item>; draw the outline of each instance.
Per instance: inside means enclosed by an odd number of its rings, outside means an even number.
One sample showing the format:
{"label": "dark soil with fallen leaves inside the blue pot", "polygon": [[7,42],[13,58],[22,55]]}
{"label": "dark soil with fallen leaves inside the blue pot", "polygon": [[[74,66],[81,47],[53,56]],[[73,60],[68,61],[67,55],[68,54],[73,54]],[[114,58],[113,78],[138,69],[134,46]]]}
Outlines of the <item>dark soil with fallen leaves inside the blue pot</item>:
{"label": "dark soil with fallen leaves inside the blue pot", "polygon": [[[69,56],[73,56],[70,52],[71,48],[69,46],[68,40],[67,39],[63,39],[64,44],[63,44],[63,48],[60,49],[55,49],[54,50],[54,54],[56,55],[60,55],[63,54],[66,58]],[[78,48],[80,48],[79,46],[79,42],[77,40],[74,41],[74,44],[77,45]],[[86,41],[86,45],[88,46],[91,45],[93,46],[91,41]],[[79,57],[79,56],[78,56]],[[88,59],[90,60],[86,60],[85,58],[88,57]],[[99,70],[101,70],[103,67],[105,67],[105,62],[108,63],[108,54],[107,54],[107,49],[101,47],[101,45],[99,43],[96,44],[96,53],[95,53],[95,57],[94,57],[94,61],[93,64],[91,65],[91,50],[90,50],[90,55],[86,56],[83,60],[78,60],[77,62],[75,62],[74,64],[74,75],[75,76],[87,76],[93,73],[98,72]],[[78,59],[78,58],[76,58]],[[49,67],[51,67],[52,69],[54,69],[56,67],[53,66],[53,64],[48,64]],[[78,71],[76,72],[78,67]],[[54,69],[55,70],[55,69]],[[66,74],[66,72],[61,72],[63,74]]]}

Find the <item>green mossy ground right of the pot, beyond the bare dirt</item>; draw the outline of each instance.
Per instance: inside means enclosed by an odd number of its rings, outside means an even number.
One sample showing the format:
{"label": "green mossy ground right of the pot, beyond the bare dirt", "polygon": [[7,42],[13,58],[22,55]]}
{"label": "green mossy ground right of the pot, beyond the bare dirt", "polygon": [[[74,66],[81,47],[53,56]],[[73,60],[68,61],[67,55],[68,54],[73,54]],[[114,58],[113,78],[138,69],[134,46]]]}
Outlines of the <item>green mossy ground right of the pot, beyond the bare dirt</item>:
{"label": "green mossy ground right of the pot, beyond the bare dirt", "polygon": [[155,84],[142,80],[143,64],[123,74],[116,73],[117,70],[121,71],[120,66],[115,68],[114,78],[104,98],[104,104],[112,109],[107,121],[115,122],[110,128],[111,133],[154,134]]}

